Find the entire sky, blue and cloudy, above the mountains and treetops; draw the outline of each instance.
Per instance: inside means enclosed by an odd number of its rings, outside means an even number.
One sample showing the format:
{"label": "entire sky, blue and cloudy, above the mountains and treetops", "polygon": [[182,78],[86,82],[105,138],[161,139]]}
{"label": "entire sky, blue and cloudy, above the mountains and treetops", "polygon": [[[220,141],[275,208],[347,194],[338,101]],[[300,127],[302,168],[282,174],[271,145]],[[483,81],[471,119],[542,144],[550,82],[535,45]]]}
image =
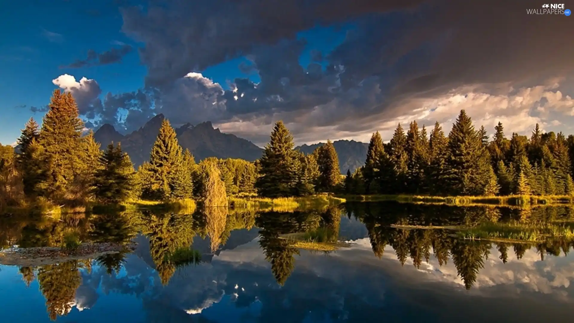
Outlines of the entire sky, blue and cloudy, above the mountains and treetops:
{"label": "entire sky, blue and cloudy, above the mountains and treetops", "polygon": [[[297,143],[365,141],[375,130],[387,139],[411,120],[448,130],[463,108],[487,129],[498,121],[522,133],[536,123],[574,124],[574,45],[561,41],[574,18],[493,13],[486,2],[333,1],[2,2],[0,28],[9,32],[0,41],[0,143],[14,143],[29,117],[41,121],[30,107],[45,106],[64,74],[94,80],[82,90],[60,85],[84,95],[76,99],[95,116],[83,116],[89,125],[124,132],[160,112],[212,121],[258,144],[277,120]],[[114,63],[65,67],[122,45],[132,50]],[[146,96],[118,101],[138,90]]]}

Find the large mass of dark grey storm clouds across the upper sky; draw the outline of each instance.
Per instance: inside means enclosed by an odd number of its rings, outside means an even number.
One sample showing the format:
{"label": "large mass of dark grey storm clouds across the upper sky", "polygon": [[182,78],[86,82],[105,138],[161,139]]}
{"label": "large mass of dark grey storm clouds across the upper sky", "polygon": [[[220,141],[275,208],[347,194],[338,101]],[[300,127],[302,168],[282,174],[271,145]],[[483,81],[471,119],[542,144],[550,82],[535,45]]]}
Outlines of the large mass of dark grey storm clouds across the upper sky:
{"label": "large mass of dark grey storm clouds across the upper sky", "polygon": [[[264,126],[282,118],[296,122],[296,136],[306,140],[324,140],[326,134],[317,129],[325,126],[335,135],[370,132],[420,108],[413,99],[474,84],[493,84],[483,86],[488,92],[503,82],[533,86],[571,75],[571,19],[526,14],[540,5],[532,0],[152,0],[148,6],[123,7],[122,30],[144,44],[139,55],[148,67],[146,89],[154,90],[108,94],[93,105],[94,114],[127,131],[161,111],[192,123]],[[301,53],[313,44],[296,34],[340,23],[351,25],[343,43],[332,52],[312,50],[311,64],[301,66]],[[95,54],[88,53],[86,61],[96,60]],[[238,56],[247,58],[240,70],[256,72],[260,83],[236,79],[232,90],[223,91],[200,75],[186,76]],[[122,109],[127,117],[117,121]],[[262,129],[241,135],[259,139],[262,132],[268,135]]]}

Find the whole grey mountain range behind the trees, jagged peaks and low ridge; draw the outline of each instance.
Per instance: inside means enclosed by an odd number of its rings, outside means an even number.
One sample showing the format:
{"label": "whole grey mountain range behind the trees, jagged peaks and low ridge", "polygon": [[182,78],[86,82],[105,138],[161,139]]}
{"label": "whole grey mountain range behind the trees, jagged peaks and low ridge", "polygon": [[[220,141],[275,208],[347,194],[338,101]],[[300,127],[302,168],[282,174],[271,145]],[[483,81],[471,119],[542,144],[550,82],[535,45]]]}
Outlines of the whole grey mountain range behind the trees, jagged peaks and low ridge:
{"label": "whole grey mountain range behind the trees, jagged peaks and low ridge", "polygon": [[[104,124],[94,133],[94,139],[102,145],[102,149],[112,142],[121,143],[123,151],[127,152],[137,167],[149,160],[149,154],[164,118],[163,114],[158,114],[138,130],[125,135],[119,133],[113,125]],[[197,162],[207,157],[241,158],[254,161],[259,159],[263,153],[262,148],[249,140],[220,132],[210,121],[201,122],[195,126],[188,123],[175,130],[181,147],[189,149]],[[320,145],[323,143],[302,145],[295,149],[303,153],[312,153]],[[333,145],[339,155],[342,174],[347,172],[347,169],[354,171],[356,167],[364,163],[367,144],[354,140],[338,140],[333,142]]]}

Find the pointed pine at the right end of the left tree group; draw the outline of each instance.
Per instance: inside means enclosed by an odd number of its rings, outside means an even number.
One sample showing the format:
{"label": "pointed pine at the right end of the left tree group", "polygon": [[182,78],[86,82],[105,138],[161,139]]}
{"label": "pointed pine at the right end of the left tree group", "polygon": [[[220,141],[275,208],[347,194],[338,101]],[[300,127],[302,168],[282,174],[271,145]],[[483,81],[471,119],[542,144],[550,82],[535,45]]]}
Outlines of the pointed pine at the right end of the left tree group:
{"label": "pointed pine at the right end of the left tree group", "polygon": [[317,164],[319,165],[319,189],[332,192],[341,180],[339,157],[331,140],[317,148]]}

